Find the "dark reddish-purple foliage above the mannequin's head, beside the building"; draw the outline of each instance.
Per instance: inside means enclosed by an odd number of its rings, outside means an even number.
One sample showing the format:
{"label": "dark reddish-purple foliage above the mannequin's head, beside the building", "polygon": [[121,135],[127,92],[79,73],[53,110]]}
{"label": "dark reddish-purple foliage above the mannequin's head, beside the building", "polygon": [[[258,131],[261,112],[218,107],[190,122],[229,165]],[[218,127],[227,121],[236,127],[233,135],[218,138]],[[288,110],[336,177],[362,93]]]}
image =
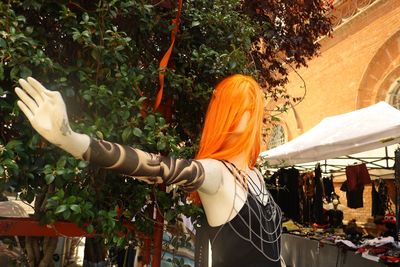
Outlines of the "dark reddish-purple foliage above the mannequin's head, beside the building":
{"label": "dark reddish-purple foliage above the mannequin's head, beside the building", "polygon": [[316,40],[332,30],[327,16],[331,2],[244,0],[244,12],[263,29],[252,39],[251,55],[273,97],[282,96],[276,88],[288,82],[291,67],[306,67],[307,60],[318,55]]}

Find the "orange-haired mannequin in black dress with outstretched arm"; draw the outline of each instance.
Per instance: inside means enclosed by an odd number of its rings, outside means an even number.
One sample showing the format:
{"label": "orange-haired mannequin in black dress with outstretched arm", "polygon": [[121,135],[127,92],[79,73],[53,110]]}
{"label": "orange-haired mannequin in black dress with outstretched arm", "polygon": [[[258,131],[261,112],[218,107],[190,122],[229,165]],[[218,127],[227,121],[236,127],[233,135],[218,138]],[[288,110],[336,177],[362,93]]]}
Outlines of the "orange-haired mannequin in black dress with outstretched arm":
{"label": "orange-haired mannequin in black dress with outstretched arm", "polygon": [[[254,168],[263,118],[263,93],[254,79],[237,74],[216,86],[195,160],[163,157],[76,133],[59,92],[33,78],[20,79],[19,84],[18,106],[49,142],[100,167],[196,191],[210,227],[214,267],[280,266],[280,209]],[[227,248],[224,236],[232,235],[237,244]],[[235,247],[247,250],[233,251]]]}

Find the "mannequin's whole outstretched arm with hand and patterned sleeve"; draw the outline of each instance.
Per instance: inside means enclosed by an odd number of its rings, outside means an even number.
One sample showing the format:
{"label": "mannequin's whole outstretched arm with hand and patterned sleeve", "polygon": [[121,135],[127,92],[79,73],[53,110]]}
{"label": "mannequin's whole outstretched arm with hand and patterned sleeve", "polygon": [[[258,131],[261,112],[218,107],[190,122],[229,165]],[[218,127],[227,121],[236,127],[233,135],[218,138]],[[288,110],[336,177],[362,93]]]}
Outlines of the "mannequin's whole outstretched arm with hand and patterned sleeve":
{"label": "mannequin's whole outstretched arm with hand and patterned sleeve", "polygon": [[19,83],[22,89],[15,89],[20,98],[18,106],[33,128],[76,158],[147,182],[176,184],[186,191],[199,189],[215,193],[218,190],[221,171],[215,163],[163,157],[76,133],[69,126],[65,103],[59,92],[47,90],[33,78],[20,79]]}

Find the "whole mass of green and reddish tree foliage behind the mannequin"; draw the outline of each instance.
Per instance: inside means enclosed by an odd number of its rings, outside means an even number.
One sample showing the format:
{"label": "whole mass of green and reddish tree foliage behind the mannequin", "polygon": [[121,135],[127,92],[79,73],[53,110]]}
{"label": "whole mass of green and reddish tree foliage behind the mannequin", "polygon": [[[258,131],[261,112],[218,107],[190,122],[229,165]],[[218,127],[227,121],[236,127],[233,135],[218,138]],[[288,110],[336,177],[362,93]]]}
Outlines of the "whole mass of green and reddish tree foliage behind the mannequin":
{"label": "whole mass of green and reddish tree foliage behind the mannequin", "polygon": [[[174,1],[0,3],[0,191],[35,203],[42,223],[69,220],[122,244],[119,216],[151,231],[154,203],[174,221],[199,212],[166,193],[88,166],[49,145],[16,107],[13,87],[34,76],[67,102],[72,127],[149,152],[193,157],[213,86],[250,74],[285,97],[290,64],[317,55],[331,30],[323,0],[183,1],[166,70],[164,112],[151,109],[159,60],[170,45]],[[146,115],[144,115],[146,114]],[[119,211],[119,212],[117,212]],[[129,237],[128,237],[129,238]],[[122,240],[122,241],[121,241]]]}

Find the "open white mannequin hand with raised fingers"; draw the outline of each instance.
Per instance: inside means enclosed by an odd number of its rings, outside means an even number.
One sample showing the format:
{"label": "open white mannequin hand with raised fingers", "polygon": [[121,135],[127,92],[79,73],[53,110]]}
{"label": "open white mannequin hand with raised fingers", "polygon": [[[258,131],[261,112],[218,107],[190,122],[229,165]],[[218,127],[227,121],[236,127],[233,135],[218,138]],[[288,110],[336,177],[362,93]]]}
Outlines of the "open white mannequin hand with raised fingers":
{"label": "open white mannequin hand with raised fingers", "polygon": [[23,89],[15,88],[20,98],[17,104],[32,127],[50,143],[81,158],[89,147],[90,138],[71,130],[61,94],[47,90],[31,77],[20,79],[19,84]]}

